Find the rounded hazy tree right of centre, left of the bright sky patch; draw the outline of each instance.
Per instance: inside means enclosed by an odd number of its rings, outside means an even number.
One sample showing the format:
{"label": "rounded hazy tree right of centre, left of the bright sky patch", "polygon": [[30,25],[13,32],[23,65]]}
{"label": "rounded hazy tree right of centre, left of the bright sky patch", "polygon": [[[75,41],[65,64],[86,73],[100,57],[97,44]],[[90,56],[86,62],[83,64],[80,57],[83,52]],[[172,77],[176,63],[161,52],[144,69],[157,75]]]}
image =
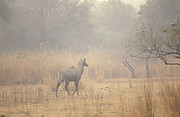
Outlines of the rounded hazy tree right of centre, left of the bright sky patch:
{"label": "rounded hazy tree right of centre, left of the bright sky patch", "polygon": [[121,0],[107,0],[96,8],[94,17],[95,38],[100,40],[100,47],[121,52],[119,50],[133,37],[136,11],[132,5]]}

